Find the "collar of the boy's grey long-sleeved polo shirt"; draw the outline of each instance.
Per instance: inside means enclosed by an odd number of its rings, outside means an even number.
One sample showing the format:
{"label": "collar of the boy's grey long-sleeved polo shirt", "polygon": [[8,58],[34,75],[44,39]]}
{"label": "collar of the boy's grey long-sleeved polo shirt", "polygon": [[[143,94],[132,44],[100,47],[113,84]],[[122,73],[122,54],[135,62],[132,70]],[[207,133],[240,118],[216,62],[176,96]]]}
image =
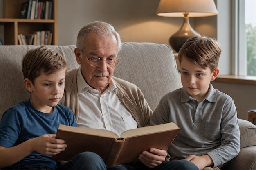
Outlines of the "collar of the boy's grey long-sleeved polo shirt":
{"label": "collar of the boy's grey long-sleeved polo shirt", "polygon": [[[195,100],[193,99],[187,92],[186,89],[184,89],[182,87],[181,90],[181,102],[188,102],[189,100]],[[216,102],[216,91],[213,88],[212,84],[210,83],[209,85],[209,92],[207,93],[207,95],[205,96],[204,100],[208,100],[209,102]],[[200,102],[200,101],[198,101]]]}

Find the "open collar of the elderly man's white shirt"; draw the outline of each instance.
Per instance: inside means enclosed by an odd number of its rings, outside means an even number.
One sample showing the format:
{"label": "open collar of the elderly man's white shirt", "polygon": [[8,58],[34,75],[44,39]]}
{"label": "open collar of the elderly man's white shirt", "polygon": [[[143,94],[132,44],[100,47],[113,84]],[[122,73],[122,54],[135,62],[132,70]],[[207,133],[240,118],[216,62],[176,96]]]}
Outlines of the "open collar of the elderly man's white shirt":
{"label": "open collar of the elderly man's white shirt", "polygon": [[[81,73],[81,65],[78,68],[77,72],[77,90],[78,94],[87,92],[89,89],[93,89],[88,85],[88,83],[83,78],[83,75]],[[111,79],[108,89],[106,89],[105,92],[112,92],[114,90],[115,94],[117,94],[117,86],[115,85],[114,81]]]}

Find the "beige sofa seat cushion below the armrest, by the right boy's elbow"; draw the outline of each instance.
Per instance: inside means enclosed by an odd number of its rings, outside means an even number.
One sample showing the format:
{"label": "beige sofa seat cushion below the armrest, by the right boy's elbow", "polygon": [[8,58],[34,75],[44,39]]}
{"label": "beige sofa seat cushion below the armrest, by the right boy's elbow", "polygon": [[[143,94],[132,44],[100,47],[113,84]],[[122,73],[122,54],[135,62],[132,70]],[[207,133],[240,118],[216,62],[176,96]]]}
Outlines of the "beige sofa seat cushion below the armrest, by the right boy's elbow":
{"label": "beige sofa seat cushion below the armrest, by the right boy's elbow", "polygon": [[241,148],[239,154],[227,163],[227,169],[256,170],[256,146]]}

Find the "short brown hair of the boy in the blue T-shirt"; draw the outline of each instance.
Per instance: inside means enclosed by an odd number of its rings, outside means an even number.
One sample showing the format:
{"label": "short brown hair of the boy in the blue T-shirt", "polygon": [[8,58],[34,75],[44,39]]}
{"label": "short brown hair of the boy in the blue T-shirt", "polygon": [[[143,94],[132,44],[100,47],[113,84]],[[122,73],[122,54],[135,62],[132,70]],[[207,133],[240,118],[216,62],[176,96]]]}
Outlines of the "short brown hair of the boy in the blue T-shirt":
{"label": "short brown hair of the boy in the blue T-shirt", "polygon": [[46,46],[29,50],[23,56],[21,65],[24,79],[28,78],[32,83],[42,72],[49,75],[67,68],[65,59],[55,50]]}

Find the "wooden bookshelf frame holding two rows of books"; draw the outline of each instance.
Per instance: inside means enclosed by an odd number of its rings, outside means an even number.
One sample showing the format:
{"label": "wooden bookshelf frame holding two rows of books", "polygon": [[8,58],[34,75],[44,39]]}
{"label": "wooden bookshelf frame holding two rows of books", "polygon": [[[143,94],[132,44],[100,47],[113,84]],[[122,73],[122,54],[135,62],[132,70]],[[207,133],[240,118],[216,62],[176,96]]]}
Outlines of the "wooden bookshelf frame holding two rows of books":
{"label": "wooden bookshelf frame holding two rows of books", "polygon": [[4,18],[0,18],[0,25],[4,25],[4,45],[18,45],[18,34],[28,35],[43,30],[51,31],[52,45],[58,45],[58,0],[51,0],[52,20],[20,19],[20,10],[25,1],[4,0]]}

